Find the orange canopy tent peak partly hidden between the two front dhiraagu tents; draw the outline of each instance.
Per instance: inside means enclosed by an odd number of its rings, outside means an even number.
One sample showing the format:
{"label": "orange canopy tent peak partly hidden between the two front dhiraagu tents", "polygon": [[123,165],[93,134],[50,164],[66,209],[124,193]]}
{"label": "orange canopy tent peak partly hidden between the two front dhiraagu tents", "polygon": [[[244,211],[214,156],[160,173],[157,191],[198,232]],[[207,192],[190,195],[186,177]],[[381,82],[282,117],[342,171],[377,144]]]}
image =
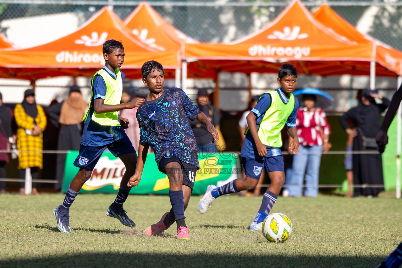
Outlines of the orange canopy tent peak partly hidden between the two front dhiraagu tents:
{"label": "orange canopy tent peak partly hidden between the two front dhiraagu tents", "polygon": [[[145,1],[127,16],[123,24],[142,42],[159,51],[180,50],[184,43],[199,43],[167,23]],[[180,87],[180,69],[176,69],[176,86]]]}

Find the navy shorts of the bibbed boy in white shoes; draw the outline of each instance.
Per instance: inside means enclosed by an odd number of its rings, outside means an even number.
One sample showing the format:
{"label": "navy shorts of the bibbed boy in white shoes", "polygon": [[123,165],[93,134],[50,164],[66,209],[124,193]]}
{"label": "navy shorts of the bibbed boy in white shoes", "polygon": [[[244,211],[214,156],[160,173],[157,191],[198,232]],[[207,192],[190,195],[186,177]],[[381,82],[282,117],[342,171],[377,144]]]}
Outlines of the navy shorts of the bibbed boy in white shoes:
{"label": "navy shorts of the bibbed boy in white shoes", "polygon": [[259,180],[263,168],[267,172],[272,171],[282,171],[285,172],[283,167],[283,155],[270,156],[264,158],[243,158],[242,166],[244,168],[244,173],[247,177]]}

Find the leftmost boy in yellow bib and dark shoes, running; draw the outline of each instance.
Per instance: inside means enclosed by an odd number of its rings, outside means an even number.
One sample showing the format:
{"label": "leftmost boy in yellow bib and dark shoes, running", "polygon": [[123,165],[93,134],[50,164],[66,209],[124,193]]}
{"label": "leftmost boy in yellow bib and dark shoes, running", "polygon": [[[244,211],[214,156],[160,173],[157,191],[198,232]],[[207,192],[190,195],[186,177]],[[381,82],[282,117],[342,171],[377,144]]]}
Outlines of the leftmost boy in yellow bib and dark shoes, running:
{"label": "leftmost boy in yellow bib and dark shoes, running", "polygon": [[119,157],[126,168],[119,193],[107,209],[106,215],[118,219],[126,226],[135,227],[135,223],[124,211],[123,203],[131,189],[127,186],[127,182],[135,172],[137,153],[124,131],[128,128],[129,122],[119,117],[118,111],[139,107],[144,99],[120,104],[125,76],[119,68],[124,62],[124,55],[124,47],[119,41],[111,39],[103,44],[105,67],[96,72],[91,80],[91,100],[88,112],[82,119],[85,125],[80,152],[74,161],[74,166],[80,169],[68,186],[63,204],[53,210],[57,228],[63,233],[70,233],[70,206],[81,187],[91,178],[92,170],[106,148],[115,157]]}

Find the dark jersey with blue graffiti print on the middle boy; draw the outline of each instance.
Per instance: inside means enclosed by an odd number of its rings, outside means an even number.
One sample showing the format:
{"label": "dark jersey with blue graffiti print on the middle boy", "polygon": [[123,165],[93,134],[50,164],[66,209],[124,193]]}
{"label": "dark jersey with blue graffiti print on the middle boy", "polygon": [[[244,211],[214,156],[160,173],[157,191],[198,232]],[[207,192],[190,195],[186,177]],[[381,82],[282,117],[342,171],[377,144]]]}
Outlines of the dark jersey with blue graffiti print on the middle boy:
{"label": "dark jersey with blue graffiti print on the middle boy", "polygon": [[158,166],[164,155],[172,153],[199,168],[197,142],[189,124],[199,113],[182,89],[165,90],[156,100],[144,101],[137,110],[139,144],[150,145]]}

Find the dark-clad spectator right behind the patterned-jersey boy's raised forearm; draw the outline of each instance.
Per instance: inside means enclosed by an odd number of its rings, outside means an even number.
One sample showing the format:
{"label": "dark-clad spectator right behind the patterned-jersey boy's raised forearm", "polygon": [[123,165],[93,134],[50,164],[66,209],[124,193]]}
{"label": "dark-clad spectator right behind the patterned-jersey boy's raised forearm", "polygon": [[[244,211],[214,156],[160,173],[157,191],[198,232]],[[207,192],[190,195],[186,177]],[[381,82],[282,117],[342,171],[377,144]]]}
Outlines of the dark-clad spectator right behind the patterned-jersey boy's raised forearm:
{"label": "dark-clad spectator right behind the patterned-jersey boy's raised forearm", "polygon": [[[211,105],[211,102],[209,101],[209,94],[205,88],[198,90],[197,107],[208,117],[209,121],[211,121],[214,127],[219,125],[219,111],[215,106]],[[216,145],[215,143],[211,144],[213,137],[211,133],[208,132],[207,127],[196,120],[191,121],[190,125],[193,129],[195,141],[197,141],[197,151],[216,153]]]}

